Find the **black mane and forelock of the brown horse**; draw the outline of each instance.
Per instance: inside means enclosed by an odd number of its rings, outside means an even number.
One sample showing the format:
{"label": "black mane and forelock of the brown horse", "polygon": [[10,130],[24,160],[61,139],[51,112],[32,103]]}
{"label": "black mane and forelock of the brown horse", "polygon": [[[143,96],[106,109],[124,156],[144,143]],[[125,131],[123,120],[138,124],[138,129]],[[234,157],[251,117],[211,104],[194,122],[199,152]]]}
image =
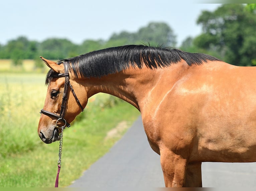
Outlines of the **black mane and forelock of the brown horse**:
{"label": "black mane and forelock of the brown horse", "polygon": [[[114,74],[129,67],[161,68],[179,62],[181,59],[191,66],[200,65],[203,62],[219,61],[210,55],[201,53],[188,53],[178,49],[161,48],[144,45],[126,45],[93,51],[74,58],[63,59],[58,62],[70,63],[70,70],[74,71],[76,77],[100,78],[108,74]],[[143,64],[144,63],[144,64]],[[54,72],[50,70],[46,76],[45,83],[49,84]]]}

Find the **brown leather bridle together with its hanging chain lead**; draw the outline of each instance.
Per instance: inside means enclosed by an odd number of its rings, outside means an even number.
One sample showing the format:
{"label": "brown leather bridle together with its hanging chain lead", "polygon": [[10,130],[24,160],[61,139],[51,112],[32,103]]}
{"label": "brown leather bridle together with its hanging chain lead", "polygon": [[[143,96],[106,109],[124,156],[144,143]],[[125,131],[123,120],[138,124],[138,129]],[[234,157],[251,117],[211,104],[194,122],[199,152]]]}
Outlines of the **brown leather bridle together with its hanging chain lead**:
{"label": "brown leather bridle together with its hanging chain lead", "polygon": [[61,167],[61,151],[62,151],[62,142],[63,142],[63,130],[65,129],[65,127],[70,127],[70,124],[66,121],[66,119],[64,118],[65,115],[65,111],[66,111],[66,105],[67,105],[67,100],[68,100],[68,89],[70,86],[71,92],[73,94],[73,96],[75,97],[78,105],[80,106],[80,108],[82,109],[82,111],[84,111],[83,106],[81,105],[77,95],[75,94],[75,91],[73,89],[73,87],[70,84],[70,76],[69,76],[69,68],[68,68],[68,63],[67,62],[63,62],[64,65],[64,73],[60,73],[58,75],[53,76],[53,78],[60,78],[60,77],[65,77],[65,85],[64,85],[64,92],[63,92],[63,96],[62,96],[62,103],[61,103],[61,108],[60,108],[60,113],[59,115],[50,112],[50,111],[46,111],[44,109],[41,109],[40,113],[47,115],[49,117],[53,117],[56,118],[56,124],[55,124],[55,128],[58,129],[58,125],[57,122],[59,120],[62,120],[63,122],[65,122],[65,124],[61,127],[61,132],[60,132],[60,141],[59,141],[59,159],[58,159],[58,172],[57,172],[57,176],[56,176],[56,181],[55,181],[55,187],[58,187],[58,179],[59,179],[59,171],[60,171],[60,167]]}

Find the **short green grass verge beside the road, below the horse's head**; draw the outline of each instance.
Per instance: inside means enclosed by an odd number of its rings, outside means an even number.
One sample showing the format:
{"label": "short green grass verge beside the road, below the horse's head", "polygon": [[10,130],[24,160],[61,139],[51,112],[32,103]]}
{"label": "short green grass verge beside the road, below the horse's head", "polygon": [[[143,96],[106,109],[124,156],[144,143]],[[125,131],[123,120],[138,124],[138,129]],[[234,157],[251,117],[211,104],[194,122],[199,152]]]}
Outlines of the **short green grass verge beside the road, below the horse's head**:
{"label": "short green grass verge beside the road, below the horse's head", "polygon": [[[106,141],[107,132],[122,120],[127,120],[131,125],[138,116],[136,110],[129,112],[131,110],[131,105],[121,102],[97,115],[88,113],[86,119],[65,129],[59,187],[70,185],[111,148],[118,138]],[[40,142],[32,151],[2,158],[0,186],[53,187],[58,146],[58,142],[48,145]]]}

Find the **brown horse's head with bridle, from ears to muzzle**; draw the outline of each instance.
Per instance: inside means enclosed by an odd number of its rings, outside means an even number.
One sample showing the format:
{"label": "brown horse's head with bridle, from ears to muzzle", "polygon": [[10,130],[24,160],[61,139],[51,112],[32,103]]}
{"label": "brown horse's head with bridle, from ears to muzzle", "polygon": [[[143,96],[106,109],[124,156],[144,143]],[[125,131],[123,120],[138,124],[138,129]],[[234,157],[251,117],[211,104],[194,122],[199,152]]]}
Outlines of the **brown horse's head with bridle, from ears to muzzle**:
{"label": "brown horse's head with bridle, from ears to muzzle", "polygon": [[[38,124],[38,135],[45,143],[59,140],[62,125],[70,126],[87,104],[87,93],[69,72],[68,64],[57,64],[41,57],[51,69],[47,74],[47,94]],[[72,85],[72,86],[70,86]],[[76,94],[72,89],[76,91]],[[78,100],[80,98],[81,104]],[[83,98],[83,99],[82,99]]]}

